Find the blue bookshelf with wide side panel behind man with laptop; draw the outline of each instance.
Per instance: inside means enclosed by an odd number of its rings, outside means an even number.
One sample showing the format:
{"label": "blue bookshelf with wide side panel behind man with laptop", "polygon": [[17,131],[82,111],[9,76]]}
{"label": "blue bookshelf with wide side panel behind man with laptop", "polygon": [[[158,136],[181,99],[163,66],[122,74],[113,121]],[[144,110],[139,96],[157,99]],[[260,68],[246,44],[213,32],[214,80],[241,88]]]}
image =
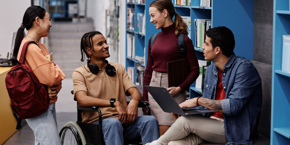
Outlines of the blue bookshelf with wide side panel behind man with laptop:
{"label": "blue bookshelf with wide side panel behind man with laptop", "polygon": [[[173,1],[174,2],[174,1]],[[232,30],[235,36],[235,55],[253,59],[254,38],[254,1],[240,0],[212,0],[212,7],[201,7],[200,1],[191,0],[190,10],[188,8],[175,8],[181,16],[191,17],[191,40],[197,59],[204,60],[203,50],[196,47],[194,40],[194,19],[211,19],[212,28],[226,26]],[[195,88],[195,82],[190,87],[190,98],[202,95],[202,90]]]}

